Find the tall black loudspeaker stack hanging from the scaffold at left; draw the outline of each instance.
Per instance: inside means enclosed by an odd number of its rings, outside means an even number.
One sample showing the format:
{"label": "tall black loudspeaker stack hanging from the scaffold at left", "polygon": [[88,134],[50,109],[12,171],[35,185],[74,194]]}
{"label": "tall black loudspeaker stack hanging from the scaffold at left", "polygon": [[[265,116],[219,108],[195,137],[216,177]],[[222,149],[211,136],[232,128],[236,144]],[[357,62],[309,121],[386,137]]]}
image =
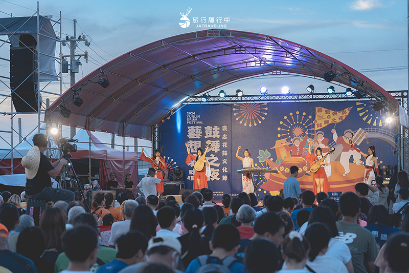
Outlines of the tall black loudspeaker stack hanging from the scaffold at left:
{"label": "tall black loudspeaker stack hanging from the scaffold at left", "polygon": [[10,89],[16,112],[37,112],[37,50],[35,47],[10,48]]}

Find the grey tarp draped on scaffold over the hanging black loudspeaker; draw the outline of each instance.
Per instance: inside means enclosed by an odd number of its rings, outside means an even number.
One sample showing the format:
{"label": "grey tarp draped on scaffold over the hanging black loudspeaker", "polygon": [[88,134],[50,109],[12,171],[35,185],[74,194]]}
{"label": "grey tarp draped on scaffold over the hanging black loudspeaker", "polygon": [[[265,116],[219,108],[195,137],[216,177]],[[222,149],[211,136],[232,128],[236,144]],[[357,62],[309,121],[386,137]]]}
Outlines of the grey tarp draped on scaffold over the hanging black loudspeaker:
{"label": "grey tarp draped on scaffold over the hanging black loudspeaker", "polygon": [[[50,19],[47,17],[39,17],[40,34],[55,38],[55,32],[51,25]],[[19,46],[19,37],[22,34],[31,34],[37,40],[37,17],[7,17],[0,18],[0,36],[7,35],[10,38],[12,47]],[[40,35],[40,53],[50,56],[55,56],[56,41],[48,37]],[[43,54],[39,54],[40,58],[40,81],[58,80],[55,71],[55,59]],[[48,75],[48,74],[51,75]],[[52,76],[54,75],[54,76]]]}

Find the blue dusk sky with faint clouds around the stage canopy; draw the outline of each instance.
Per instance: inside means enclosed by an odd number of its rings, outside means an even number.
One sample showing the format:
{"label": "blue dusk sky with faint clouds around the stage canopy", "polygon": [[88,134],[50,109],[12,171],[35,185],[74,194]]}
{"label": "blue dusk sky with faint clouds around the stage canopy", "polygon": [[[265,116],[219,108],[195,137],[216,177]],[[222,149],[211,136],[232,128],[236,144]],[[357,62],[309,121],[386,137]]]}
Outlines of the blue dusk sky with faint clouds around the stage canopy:
{"label": "blue dusk sky with faint clouds around the stage canopy", "polygon": [[[385,90],[407,90],[407,1],[51,1],[39,2],[40,13],[58,19],[62,13],[62,36],[73,35],[73,21],[77,33],[92,40],[89,47],[80,43],[77,54],[87,50],[89,61],[82,60],[77,80],[107,61],[132,49],[165,37],[209,28],[223,28],[256,32],[286,39],[327,54],[366,75]],[[191,9],[190,26],[181,28],[180,13]],[[0,0],[2,17],[31,16],[37,9],[32,0]],[[198,18],[198,23],[193,18]],[[209,25],[215,18],[216,27]],[[203,18],[207,23],[202,23]],[[220,18],[222,23],[217,23]],[[0,37],[5,39],[6,36]],[[69,54],[69,48],[63,48]],[[8,58],[9,48],[0,48],[1,57]],[[0,61],[0,75],[8,76],[8,62]],[[70,87],[69,74],[64,74],[62,92]],[[5,83],[8,83],[5,81]],[[267,76],[233,83],[223,88],[232,95],[237,88],[246,94],[259,94],[265,86],[268,92],[279,93],[288,86],[291,93],[306,93],[313,84],[318,93],[325,92],[327,82],[305,77]],[[1,83],[0,93],[8,94]],[[59,83],[49,88],[59,93]],[[216,95],[218,90],[212,91]],[[43,96],[54,101],[53,95]],[[9,112],[10,104],[0,104],[0,112]],[[32,116],[32,115],[31,115]],[[23,133],[33,128],[36,117],[22,117]],[[16,119],[17,120],[17,119]],[[10,129],[9,117],[0,117],[2,129]],[[35,123],[36,121],[34,121]],[[17,124],[17,122],[15,122]],[[65,130],[69,136],[69,130]],[[107,134],[98,137],[109,142]],[[7,139],[7,136],[5,137]],[[119,142],[119,140],[117,140]],[[122,143],[122,140],[121,140]],[[127,144],[132,144],[131,139]],[[0,146],[5,144],[0,141]]]}

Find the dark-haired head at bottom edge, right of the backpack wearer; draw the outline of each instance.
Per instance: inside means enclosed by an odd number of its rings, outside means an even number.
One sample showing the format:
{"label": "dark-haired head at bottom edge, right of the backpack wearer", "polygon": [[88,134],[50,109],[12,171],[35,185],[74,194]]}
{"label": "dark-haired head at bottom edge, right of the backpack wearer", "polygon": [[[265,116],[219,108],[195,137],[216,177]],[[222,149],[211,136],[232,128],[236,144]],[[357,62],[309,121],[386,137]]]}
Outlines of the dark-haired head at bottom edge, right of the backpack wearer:
{"label": "dark-haired head at bottom edge, right of the backpack wearer", "polygon": [[249,242],[244,251],[244,265],[248,272],[276,272],[281,253],[277,246],[265,239]]}

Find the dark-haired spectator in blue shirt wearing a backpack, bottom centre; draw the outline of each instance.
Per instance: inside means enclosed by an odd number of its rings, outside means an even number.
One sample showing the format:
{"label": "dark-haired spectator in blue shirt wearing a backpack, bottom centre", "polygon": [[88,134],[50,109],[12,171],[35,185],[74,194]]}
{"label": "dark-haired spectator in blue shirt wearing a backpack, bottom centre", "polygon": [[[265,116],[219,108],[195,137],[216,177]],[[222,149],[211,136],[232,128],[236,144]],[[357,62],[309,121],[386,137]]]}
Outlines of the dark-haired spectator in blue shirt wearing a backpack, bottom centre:
{"label": "dark-haired spectator in blue shirt wearing a backpack, bottom centre", "polygon": [[210,241],[211,255],[202,255],[194,259],[186,268],[186,273],[194,273],[205,264],[215,263],[228,267],[232,272],[243,272],[244,265],[234,256],[240,247],[240,234],[233,225],[219,225]]}

